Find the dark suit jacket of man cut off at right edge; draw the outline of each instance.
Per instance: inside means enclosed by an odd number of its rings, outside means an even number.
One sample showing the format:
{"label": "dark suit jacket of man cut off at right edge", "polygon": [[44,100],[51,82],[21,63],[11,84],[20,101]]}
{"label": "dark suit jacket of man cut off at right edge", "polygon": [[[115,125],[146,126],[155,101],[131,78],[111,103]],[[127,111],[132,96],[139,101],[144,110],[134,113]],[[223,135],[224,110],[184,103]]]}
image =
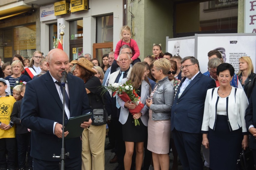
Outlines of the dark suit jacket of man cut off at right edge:
{"label": "dark suit jacket of man cut off at right edge", "polygon": [[[245,110],[245,123],[247,131],[249,131],[250,125],[254,125],[256,128],[256,88],[253,89],[249,105]],[[256,149],[256,139],[253,136],[250,138],[250,148]]]}

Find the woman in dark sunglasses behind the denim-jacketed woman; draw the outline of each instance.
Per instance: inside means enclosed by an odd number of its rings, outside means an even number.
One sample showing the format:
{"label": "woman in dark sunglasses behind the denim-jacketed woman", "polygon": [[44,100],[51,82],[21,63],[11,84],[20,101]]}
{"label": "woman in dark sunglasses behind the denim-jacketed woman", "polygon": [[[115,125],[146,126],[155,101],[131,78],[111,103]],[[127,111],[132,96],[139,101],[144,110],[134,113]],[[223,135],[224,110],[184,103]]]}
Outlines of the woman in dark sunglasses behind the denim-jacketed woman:
{"label": "woman in dark sunglasses behind the denim-jacketed woman", "polygon": [[175,98],[175,95],[178,91],[178,87],[179,87],[181,81],[179,79],[175,78],[175,74],[177,73],[177,69],[178,69],[177,62],[174,60],[170,60],[170,62],[171,62],[171,69],[168,72],[168,79],[171,81],[171,83],[174,87],[174,98]]}

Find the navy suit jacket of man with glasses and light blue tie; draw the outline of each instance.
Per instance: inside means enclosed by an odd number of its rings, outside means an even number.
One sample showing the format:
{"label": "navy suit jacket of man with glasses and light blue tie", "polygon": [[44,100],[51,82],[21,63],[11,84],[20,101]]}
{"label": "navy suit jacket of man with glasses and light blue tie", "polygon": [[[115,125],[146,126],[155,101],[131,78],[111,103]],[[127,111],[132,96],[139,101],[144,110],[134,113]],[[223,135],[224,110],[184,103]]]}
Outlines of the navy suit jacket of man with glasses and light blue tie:
{"label": "navy suit jacket of man with glasses and light blue tie", "polygon": [[201,72],[190,82],[178,99],[181,81],[177,95],[173,101],[171,111],[171,130],[188,133],[201,133],[204,102],[207,90],[215,88],[216,84],[210,77],[204,76]]}

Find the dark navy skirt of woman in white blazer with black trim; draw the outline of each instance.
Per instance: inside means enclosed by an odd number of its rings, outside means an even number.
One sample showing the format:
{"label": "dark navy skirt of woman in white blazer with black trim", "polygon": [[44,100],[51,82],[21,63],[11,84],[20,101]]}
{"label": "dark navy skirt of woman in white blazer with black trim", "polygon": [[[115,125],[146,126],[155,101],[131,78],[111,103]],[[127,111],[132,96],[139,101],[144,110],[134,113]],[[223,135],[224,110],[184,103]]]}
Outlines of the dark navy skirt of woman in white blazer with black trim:
{"label": "dark navy skirt of woman in white blazer with black trim", "polygon": [[217,115],[215,130],[209,128],[210,168],[212,170],[236,170],[236,162],[242,149],[242,128],[230,131],[227,116]]}

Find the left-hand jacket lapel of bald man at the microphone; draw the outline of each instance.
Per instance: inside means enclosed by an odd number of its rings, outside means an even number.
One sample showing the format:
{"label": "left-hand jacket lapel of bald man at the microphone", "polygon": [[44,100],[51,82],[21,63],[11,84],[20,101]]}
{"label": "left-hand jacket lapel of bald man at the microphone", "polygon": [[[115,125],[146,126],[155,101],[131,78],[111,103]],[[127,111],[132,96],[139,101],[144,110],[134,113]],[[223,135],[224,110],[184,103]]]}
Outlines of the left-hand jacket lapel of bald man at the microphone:
{"label": "left-hand jacket lapel of bald man at the microphone", "polygon": [[53,99],[58,103],[59,107],[62,109],[62,102],[61,102],[61,99],[59,98],[59,94],[56,89],[55,83],[53,82],[53,79],[52,79],[49,71],[47,71],[46,74],[47,75],[46,75],[44,84],[45,84],[46,88],[50,91],[50,94],[52,95]]}

